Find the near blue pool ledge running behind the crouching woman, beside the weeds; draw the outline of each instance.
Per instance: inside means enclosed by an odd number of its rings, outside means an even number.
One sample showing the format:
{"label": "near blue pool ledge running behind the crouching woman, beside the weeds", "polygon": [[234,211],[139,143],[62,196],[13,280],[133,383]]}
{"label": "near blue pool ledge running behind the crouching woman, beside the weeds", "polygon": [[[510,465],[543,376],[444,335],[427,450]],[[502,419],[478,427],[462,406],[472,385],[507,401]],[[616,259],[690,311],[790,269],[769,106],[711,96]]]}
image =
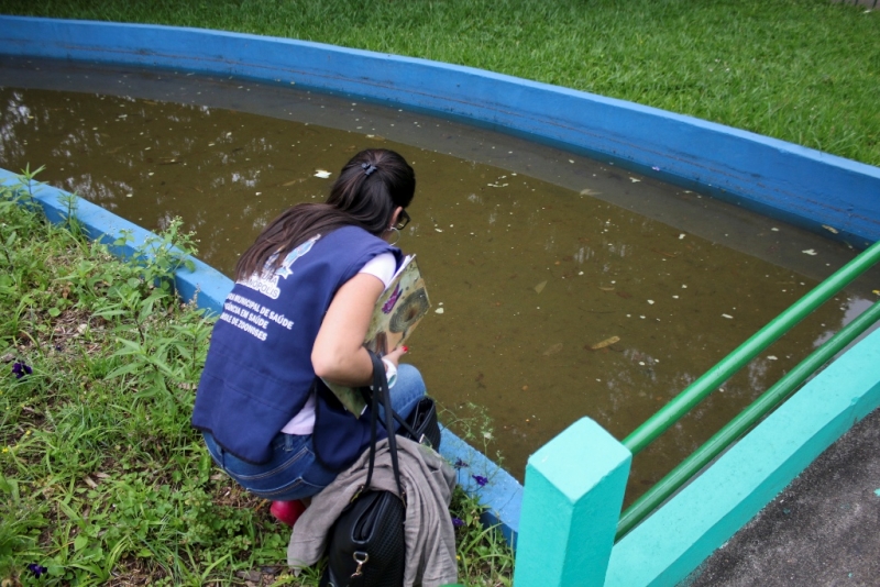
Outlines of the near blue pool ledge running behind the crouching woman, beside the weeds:
{"label": "near blue pool ledge running behind the crouching woman, beside the weeds", "polygon": [[[96,206],[69,192],[46,184],[32,181],[30,186],[22,184],[18,174],[0,168],[0,186],[29,189],[33,199],[43,208],[46,218],[54,223],[67,220],[67,201],[74,198],[75,217],[82,224],[89,239],[111,245],[111,251],[129,258],[150,237],[155,234],[124,220],[103,208]],[[125,245],[112,246],[123,233],[131,236]],[[175,287],[186,301],[195,300],[199,308],[209,313],[220,313],[223,300],[232,289],[232,280],[195,257],[190,257],[195,270],[180,269],[175,275]],[[442,430],[441,454],[450,463],[460,464],[458,468],[459,485],[469,494],[480,496],[486,507],[483,522],[499,524],[499,529],[508,543],[516,543],[519,530],[519,507],[522,501],[522,486],[509,473],[490,461],[477,450],[455,436],[449,430]],[[486,479],[485,485],[477,484],[475,477]]]}

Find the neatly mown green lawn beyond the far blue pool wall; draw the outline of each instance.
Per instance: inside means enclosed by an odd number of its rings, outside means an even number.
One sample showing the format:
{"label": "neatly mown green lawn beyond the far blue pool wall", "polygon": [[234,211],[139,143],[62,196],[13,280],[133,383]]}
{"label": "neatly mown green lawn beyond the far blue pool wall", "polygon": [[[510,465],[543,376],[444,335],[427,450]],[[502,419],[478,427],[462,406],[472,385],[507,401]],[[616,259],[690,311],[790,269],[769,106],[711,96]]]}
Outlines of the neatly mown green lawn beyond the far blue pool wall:
{"label": "neatly mown green lawn beyond the far blue pool wall", "polygon": [[827,0],[6,0],[469,65],[880,165],[880,11]]}

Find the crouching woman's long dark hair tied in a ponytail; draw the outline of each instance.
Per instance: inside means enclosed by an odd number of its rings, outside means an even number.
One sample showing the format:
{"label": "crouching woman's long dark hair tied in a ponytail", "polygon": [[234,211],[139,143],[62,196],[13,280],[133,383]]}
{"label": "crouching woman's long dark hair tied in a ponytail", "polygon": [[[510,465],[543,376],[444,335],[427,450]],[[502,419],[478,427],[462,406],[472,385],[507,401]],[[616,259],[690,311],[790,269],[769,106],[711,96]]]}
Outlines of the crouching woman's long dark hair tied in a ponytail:
{"label": "crouching woman's long dark hair tied in a ponytail", "polygon": [[263,229],[239,258],[235,280],[262,272],[275,253],[273,268],[277,268],[290,251],[316,234],[355,225],[378,236],[388,230],[394,210],[409,206],[415,192],[416,174],[404,157],[385,148],[362,151],[342,168],[326,202],[298,203]]}

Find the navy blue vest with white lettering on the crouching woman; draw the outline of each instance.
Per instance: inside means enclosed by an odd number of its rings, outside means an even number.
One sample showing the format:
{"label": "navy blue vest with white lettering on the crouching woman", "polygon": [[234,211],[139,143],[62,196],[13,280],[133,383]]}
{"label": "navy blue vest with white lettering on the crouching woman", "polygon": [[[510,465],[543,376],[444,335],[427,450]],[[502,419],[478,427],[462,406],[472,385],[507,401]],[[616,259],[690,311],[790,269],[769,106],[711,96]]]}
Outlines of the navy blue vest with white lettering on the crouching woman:
{"label": "navy blue vest with white lettering on the crouching woman", "polygon": [[334,470],[348,467],[370,443],[370,411],[355,419],[342,408],[316,378],[311,350],[339,288],[387,252],[399,266],[399,250],[344,226],[302,243],[274,273],[235,283],[211,334],[193,425],[239,458],[265,463],[317,385],[316,455]]}

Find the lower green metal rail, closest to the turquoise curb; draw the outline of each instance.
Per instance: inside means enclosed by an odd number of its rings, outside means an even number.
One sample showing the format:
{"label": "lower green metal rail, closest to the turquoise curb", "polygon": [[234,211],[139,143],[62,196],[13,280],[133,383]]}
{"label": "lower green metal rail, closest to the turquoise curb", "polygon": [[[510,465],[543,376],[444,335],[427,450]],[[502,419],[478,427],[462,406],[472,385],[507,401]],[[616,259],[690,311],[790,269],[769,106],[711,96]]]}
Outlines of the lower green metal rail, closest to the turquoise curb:
{"label": "lower green metal rail, closest to the turquoise curb", "polygon": [[730,420],[727,425],[706,441],[705,444],[627,508],[623,516],[620,516],[620,521],[617,523],[617,535],[615,540],[624,538],[632,528],[660,506],[660,503],[672,496],[681,486],[711,463],[713,458],[718,456],[727,446],[743,436],[758,420],[779,406],[794,389],[878,320],[880,320],[880,301],[876,302],[868,310],[862,312],[861,315],[840,329],[840,331],[826,341],[825,344],[820,346],[796,367],[785,374],[770,389],[765,391],[736,418]]}

